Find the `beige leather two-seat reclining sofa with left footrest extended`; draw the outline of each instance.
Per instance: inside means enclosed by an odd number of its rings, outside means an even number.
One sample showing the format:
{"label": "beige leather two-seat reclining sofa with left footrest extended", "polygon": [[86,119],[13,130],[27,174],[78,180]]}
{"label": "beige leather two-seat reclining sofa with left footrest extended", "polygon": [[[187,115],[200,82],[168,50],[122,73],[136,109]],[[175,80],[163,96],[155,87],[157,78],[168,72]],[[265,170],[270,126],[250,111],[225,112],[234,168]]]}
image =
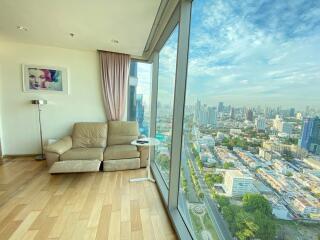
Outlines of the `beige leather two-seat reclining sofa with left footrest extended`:
{"label": "beige leather two-seat reclining sofa with left footrest extended", "polygon": [[[137,138],[136,122],[75,123],[71,136],[46,147],[47,163],[51,167],[63,162],[65,169],[59,172],[99,170],[97,166],[100,167],[101,163],[104,171],[146,167],[148,148],[131,145],[131,141]],[[74,166],[79,168],[74,169]]]}

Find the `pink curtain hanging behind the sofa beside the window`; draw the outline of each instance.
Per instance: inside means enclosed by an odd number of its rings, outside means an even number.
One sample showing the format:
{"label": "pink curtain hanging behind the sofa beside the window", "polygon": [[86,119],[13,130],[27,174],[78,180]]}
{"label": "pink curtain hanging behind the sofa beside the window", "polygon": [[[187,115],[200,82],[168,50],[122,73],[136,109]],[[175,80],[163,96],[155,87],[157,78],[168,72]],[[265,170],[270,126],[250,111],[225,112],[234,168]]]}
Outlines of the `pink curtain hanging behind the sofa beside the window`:
{"label": "pink curtain hanging behind the sofa beside the window", "polygon": [[122,120],[126,107],[130,56],[99,51],[102,91],[108,120]]}

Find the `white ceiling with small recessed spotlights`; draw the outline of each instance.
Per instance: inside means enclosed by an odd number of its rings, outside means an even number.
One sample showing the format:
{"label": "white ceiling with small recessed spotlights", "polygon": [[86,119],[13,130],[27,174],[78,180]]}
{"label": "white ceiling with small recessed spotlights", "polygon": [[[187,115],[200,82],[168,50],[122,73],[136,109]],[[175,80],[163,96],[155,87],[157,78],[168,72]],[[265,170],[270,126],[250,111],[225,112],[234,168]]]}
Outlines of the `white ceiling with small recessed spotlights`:
{"label": "white ceiling with small recessed spotlights", "polygon": [[[0,41],[141,56],[161,0],[0,0]],[[21,31],[24,26],[28,31]],[[73,38],[69,33],[74,33]],[[119,43],[113,43],[112,40]]]}

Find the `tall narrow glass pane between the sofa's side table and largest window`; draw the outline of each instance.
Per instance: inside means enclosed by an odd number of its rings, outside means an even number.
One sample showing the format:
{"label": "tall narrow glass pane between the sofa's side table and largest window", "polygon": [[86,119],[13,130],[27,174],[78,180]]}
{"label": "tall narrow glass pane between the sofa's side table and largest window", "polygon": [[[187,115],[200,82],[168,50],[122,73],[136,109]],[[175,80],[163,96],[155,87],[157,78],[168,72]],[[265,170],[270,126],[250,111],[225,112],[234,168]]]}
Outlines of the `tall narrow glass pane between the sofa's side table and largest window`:
{"label": "tall narrow glass pane between the sofa's side table and largest window", "polygon": [[171,33],[159,53],[156,136],[161,143],[155,148],[155,162],[167,186],[169,185],[177,44],[178,27]]}

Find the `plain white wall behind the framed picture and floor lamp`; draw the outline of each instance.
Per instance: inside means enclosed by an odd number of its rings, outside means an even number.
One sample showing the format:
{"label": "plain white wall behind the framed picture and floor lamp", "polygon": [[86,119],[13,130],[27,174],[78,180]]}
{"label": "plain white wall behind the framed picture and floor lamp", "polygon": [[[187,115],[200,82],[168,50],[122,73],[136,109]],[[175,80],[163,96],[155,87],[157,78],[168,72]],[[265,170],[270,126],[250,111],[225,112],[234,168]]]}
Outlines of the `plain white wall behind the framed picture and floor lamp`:
{"label": "plain white wall behind the framed picture and floor lamp", "polygon": [[[22,64],[66,67],[69,95],[23,92]],[[42,111],[44,139],[70,134],[74,122],[106,121],[97,52],[0,42],[0,66],[3,154],[40,153],[38,112],[31,99],[48,100]]]}

